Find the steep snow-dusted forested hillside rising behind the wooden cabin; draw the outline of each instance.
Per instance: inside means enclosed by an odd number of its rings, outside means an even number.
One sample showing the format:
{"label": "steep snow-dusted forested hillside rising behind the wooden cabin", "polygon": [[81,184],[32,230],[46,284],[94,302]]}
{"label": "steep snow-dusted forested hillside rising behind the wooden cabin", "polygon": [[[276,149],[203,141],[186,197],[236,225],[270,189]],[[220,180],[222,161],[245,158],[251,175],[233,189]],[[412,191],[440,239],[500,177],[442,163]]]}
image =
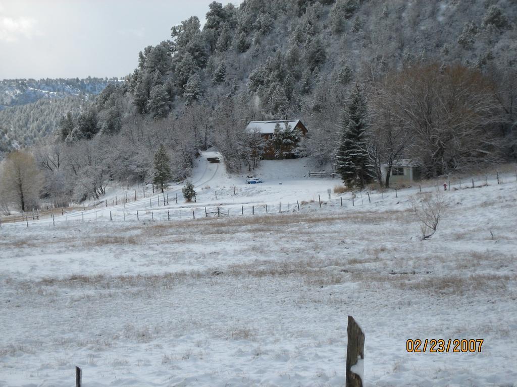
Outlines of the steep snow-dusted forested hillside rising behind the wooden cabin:
{"label": "steep snow-dusted forested hillside rising behind the wooden cabin", "polygon": [[515,20],[510,0],[213,2],[203,27],[172,26],[127,82],[77,116],[63,111],[63,142],[38,157],[68,154],[45,172],[81,200],[111,179],[149,181],[159,144],[175,179],[209,146],[229,169],[250,168],[263,144],[247,122],[300,118],[301,154],[333,163],[357,90],[372,179],[401,157],[419,157],[429,176],[515,158]]}

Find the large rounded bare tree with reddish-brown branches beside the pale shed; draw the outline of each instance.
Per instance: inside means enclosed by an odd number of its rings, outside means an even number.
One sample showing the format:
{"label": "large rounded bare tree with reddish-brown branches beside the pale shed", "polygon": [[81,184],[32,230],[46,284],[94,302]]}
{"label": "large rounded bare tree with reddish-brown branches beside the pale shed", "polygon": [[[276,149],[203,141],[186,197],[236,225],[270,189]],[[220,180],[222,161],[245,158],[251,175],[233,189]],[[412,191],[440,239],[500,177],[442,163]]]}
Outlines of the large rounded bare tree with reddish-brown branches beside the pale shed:
{"label": "large rounded bare tree with reddish-brown branches beside the pale shed", "polygon": [[498,158],[494,124],[498,104],[493,84],[461,65],[414,65],[394,76],[386,98],[390,116],[410,131],[414,152],[430,176],[473,162]]}

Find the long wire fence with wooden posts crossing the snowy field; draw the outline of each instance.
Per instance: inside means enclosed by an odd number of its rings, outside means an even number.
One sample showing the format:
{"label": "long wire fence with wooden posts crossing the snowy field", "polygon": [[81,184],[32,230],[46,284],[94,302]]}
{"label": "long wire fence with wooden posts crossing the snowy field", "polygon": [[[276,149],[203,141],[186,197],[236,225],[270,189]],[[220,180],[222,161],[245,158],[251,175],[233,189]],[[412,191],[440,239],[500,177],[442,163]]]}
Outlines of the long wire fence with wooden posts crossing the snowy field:
{"label": "long wire fence with wooden posts crossing the snowy field", "polygon": [[[127,201],[124,197],[122,204],[116,205],[108,212],[107,201],[102,201],[102,206],[83,206],[83,211],[65,212],[63,208],[54,209],[47,215],[43,215],[40,211],[32,211],[22,213],[19,217],[14,217],[6,221],[0,217],[0,230],[6,227],[25,227],[28,228],[34,225],[41,226],[56,226],[68,223],[78,222],[97,222],[97,221],[138,221],[138,222],[157,222],[157,221],[174,221],[186,219],[203,219],[203,218],[227,218],[234,216],[265,216],[273,214],[285,214],[304,211],[305,209],[317,210],[324,207],[359,207],[364,205],[379,205],[386,200],[402,199],[404,197],[418,195],[419,193],[435,192],[442,190],[445,192],[457,191],[460,189],[472,189],[486,187],[489,185],[501,185],[509,183],[517,183],[517,170],[514,174],[499,173],[478,175],[475,178],[454,178],[445,180],[436,180],[434,183],[425,181],[424,183],[413,182],[410,187],[406,188],[390,188],[377,190],[363,190],[363,191],[346,191],[344,193],[333,193],[331,189],[327,190],[327,195],[320,193],[317,197],[310,200],[278,201],[278,202],[263,202],[255,204],[238,204],[225,203],[224,199],[235,198],[237,196],[235,187],[229,191],[226,198],[221,196],[224,194],[222,190],[219,191],[219,205],[205,206],[201,203],[185,203],[185,206],[177,207],[171,206],[178,203],[177,193],[174,197],[169,198],[166,193],[159,193],[149,197],[149,203],[134,200]],[[138,198],[133,192],[134,198]],[[217,197],[217,191],[215,191]],[[116,202],[118,199],[113,199]],[[132,205],[126,205],[131,203]],[[144,208],[132,208],[135,204],[142,204]]]}

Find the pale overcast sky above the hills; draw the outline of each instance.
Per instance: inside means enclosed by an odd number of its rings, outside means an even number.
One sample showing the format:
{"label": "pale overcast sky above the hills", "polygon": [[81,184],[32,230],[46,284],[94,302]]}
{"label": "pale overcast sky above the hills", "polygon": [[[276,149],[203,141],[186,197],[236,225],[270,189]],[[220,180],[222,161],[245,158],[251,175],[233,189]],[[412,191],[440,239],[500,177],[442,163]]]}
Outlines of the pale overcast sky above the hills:
{"label": "pale overcast sky above the hills", "polygon": [[203,23],[212,1],[0,0],[0,79],[127,75],[173,25]]}

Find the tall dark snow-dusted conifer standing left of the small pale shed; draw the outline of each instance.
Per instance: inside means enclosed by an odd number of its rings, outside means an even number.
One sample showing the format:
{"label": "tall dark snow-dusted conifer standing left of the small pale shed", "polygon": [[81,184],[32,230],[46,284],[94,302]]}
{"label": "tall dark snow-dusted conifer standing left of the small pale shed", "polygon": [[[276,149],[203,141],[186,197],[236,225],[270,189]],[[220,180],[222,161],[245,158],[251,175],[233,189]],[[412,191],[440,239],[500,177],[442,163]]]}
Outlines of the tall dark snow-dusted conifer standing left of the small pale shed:
{"label": "tall dark snow-dusted conifer standing left of the small pale shed", "polygon": [[358,85],[352,93],[352,102],[345,111],[341,125],[337,169],[348,187],[362,189],[373,180],[373,174],[367,152],[366,101]]}

